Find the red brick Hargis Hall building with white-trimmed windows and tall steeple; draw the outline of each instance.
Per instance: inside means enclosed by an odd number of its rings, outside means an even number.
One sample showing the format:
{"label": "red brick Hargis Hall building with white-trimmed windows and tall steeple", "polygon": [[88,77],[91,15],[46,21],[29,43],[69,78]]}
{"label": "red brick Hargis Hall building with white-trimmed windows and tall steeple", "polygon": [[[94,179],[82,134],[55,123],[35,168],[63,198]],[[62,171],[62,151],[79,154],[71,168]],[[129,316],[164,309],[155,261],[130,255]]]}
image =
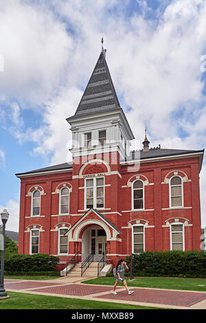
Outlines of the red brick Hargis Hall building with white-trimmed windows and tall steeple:
{"label": "red brick Hargis Hall building with white-trimmed windows and tall steeple", "polygon": [[21,179],[19,253],[82,260],[153,250],[199,250],[204,151],[130,151],[134,135],[102,48],[71,125],[72,161]]}

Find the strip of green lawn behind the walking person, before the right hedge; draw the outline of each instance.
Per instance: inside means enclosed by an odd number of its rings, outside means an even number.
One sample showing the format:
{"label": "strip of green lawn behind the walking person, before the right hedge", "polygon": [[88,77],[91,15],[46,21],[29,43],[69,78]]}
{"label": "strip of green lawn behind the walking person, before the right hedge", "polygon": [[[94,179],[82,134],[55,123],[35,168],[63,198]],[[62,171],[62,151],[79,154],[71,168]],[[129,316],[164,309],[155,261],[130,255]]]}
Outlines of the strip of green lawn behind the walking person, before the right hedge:
{"label": "strip of green lawn behind the walking person, before the right hedge", "polygon": [[[128,287],[148,287],[159,289],[181,289],[185,291],[206,291],[204,278],[168,278],[168,277],[135,277],[134,280],[126,278]],[[115,278],[101,277],[86,280],[82,284],[114,285]],[[200,286],[203,285],[203,286]],[[118,286],[124,286],[119,282]]]}

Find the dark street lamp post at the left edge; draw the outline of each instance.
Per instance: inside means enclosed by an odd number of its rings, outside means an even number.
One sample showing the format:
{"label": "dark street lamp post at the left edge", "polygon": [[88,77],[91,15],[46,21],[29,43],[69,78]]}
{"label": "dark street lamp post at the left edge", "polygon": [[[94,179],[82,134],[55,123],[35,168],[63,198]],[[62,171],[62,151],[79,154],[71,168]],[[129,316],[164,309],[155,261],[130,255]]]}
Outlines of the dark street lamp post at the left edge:
{"label": "dark street lamp post at the left edge", "polygon": [[4,277],[4,249],[5,249],[5,223],[8,221],[9,213],[7,210],[1,212],[1,221],[3,223],[3,243],[1,247],[1,282],[0,282],[0,299],[8,297],[3,286],[3,277]]}

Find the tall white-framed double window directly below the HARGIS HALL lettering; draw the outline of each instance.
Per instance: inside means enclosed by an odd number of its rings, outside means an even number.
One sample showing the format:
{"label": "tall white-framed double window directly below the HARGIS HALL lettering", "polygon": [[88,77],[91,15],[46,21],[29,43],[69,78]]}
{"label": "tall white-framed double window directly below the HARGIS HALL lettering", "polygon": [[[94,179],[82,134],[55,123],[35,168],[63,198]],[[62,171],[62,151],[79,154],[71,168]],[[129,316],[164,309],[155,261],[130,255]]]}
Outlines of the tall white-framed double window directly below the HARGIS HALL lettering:
{"label": "tall white-framed double window directly below the HARGIS HALL lettering", "polygon": [[85,185],[85,207],[104,208],[104,177],[86,179]]}

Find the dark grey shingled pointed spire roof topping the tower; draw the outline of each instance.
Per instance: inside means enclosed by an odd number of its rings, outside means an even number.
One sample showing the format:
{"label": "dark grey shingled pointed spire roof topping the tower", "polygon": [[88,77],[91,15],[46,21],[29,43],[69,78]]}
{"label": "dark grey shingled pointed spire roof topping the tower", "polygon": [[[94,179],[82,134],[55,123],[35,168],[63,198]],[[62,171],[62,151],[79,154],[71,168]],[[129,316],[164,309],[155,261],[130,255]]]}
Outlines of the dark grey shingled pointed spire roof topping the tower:
{"label": "dark grey shingled pointed spire roof topping the tower", "polygon": [[121,109],[105,56],[106,49],[104,49],[102,42],[102,52],[98,62],[91,74],[76,113],[71,118]]}

